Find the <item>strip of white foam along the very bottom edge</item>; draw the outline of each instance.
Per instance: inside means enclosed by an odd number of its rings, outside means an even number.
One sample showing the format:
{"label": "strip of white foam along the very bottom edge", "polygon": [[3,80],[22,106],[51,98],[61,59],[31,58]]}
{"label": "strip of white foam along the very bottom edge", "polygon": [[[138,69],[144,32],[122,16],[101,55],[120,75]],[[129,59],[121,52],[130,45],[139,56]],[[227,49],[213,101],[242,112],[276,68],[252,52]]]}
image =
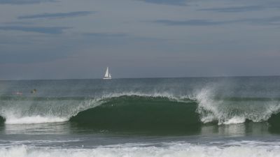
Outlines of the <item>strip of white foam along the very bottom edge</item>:
{"label": "strip of white foam along the very bottom edge", "polygon": [[59,149],[50,147],[31,147],[27,145],[2,147],[0,157],[114,157],[114,156],[165,156],[165,157],[273,157],[279,156],[280,148],[274,144],[240,144],[231,146],[195,145],[188,143],[164,144],[163,147],[145,146],[137,144],[118,144],[115,146],[97,147],[92,149],[74,148]]}

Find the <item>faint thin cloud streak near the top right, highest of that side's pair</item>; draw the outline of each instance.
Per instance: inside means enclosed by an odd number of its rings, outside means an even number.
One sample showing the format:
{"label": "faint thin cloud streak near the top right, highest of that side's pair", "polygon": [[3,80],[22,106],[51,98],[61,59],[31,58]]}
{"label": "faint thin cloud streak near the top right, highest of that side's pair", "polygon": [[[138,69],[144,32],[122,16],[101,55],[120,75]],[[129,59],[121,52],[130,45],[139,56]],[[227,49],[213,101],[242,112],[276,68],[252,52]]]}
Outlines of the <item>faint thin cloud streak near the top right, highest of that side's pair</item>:
{"label": "faint thin cloud streak near the top right, highest of that side's pair", "polygon": [[200,10],[215,11],[221,13],[234,13],[234,12],[257,11],[263,9],[265,9],[265,6],[232,6],[232,7],[225,7],[225,8],[204,8]]}

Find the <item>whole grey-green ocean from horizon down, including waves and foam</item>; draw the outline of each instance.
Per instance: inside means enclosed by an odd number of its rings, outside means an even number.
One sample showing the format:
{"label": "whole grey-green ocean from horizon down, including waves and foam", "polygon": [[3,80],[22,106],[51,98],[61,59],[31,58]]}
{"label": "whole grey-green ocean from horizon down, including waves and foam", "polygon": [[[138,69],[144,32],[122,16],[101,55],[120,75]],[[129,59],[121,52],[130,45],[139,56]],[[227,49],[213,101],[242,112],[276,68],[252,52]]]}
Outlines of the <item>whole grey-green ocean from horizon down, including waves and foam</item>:
{"label": "whole grey-green ocean from horizon down, including waves and foam", "polygon": [[0,156],[280,156],[280,77],[1,80]]}

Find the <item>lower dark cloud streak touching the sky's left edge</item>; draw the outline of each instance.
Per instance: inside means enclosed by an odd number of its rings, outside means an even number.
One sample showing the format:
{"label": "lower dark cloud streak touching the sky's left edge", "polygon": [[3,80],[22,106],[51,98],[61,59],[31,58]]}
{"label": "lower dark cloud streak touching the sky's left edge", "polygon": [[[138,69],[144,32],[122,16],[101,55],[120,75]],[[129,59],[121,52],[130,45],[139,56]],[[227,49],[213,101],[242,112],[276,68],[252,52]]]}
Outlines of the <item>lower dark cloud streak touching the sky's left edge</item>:
{"label": "lower dark cloud streak touching the sky's left edge", "polygon": [[64,29],[70,29],[70,27],[22,27],[22,26],[0,27],[0,30],[3,31],[25,31],[25,32],[48,33],[48,34],[63,33]]}

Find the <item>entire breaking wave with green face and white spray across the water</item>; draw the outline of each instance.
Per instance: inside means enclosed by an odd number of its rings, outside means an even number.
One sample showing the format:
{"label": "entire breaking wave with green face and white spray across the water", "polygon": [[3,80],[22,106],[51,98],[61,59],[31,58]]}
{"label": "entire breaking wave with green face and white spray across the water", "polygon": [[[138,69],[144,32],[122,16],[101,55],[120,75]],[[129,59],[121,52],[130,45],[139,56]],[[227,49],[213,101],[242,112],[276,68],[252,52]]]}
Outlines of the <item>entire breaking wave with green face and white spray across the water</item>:
{"label": "entire breaking wave with green face and white spray across the water", "polygon": [[210,89],[191,96],[131,92],[99,98],[1,97],[0,103],[0,124],[70,121],[108,130],[195,130],[202,124],[246,121],[275,126],[274,119],[280,119],[277,98],[217,98]]}

